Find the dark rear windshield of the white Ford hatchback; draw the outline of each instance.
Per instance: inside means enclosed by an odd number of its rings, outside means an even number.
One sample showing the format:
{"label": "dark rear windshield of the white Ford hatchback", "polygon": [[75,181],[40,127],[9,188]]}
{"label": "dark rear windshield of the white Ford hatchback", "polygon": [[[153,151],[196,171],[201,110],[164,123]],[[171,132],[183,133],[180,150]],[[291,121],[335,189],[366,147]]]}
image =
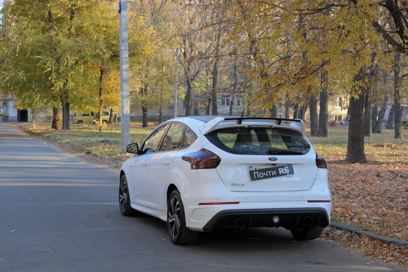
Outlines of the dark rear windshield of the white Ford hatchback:
{"label": "dark rear windshield of the white Ford hatchback", "polygon": [[206,137],[218,148],[239,155],[304,155],[310,150],[302,134],[283,128],[222,128]]}

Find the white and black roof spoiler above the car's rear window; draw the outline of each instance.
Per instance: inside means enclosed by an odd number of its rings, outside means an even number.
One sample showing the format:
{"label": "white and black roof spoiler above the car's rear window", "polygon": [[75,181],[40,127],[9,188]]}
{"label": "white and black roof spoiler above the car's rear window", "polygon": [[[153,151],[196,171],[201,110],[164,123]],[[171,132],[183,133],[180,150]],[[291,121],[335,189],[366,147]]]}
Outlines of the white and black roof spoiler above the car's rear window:
{"label": "white and black roof spoiler above the car's rear window", "polygon": [[[224,122],[224,121],[229,121],[229,120],[236,120],[237,125],[241,125],[242,121],[256,121],[256,120],[271,120],[275,121],[276,126],[290,126],[291,128],[294,128],[297,130],[299,133],[301,133],[303,136],[305,135],[305,123],[301,119],[285,119],[285,118],[269,118],[269,117],[215,117],[212,119],[210,122],[207,122],[200,126],[200,131],[202,134],[206,135],[210,133],[211,131],[215,130],[216,127]],[[283,123],[284,122],[290,122],[290,124]]]}

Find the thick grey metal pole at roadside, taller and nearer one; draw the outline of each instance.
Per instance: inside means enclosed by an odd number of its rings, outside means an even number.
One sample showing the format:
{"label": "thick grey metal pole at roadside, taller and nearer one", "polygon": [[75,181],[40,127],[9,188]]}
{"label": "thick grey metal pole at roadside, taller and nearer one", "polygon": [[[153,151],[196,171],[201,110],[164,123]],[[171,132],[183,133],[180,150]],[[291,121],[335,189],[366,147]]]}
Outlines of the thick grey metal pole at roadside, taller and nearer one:
{"label": "thick grey metal pole at roadside, taller and nearer one", "polygon": [[119,0],[119,51],[120,51],[120,145],[126,153],[130,144],[130,102],[129,102],[129,42],[127,21],[127,0]]}

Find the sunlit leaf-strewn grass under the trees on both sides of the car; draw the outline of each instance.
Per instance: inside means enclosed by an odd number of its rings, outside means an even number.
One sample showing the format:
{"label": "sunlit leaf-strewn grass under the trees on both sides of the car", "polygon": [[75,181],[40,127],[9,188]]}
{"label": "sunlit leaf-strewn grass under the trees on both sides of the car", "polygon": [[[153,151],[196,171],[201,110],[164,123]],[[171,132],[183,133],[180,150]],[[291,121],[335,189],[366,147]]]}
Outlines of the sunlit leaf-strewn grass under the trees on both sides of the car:
{"label": "sunlit leaf-strewn grass under the trees on both sides of the car", "polygon": [[[149,122],[149,128],[142,128],[141,122],[131,122],[131,141],[142,142],[158,123]],[[69,144],[79,152],[92,152],[96,156],[118,155],[120,153],[120,124],[109,125],[103,132],[98,131],[96,125],[71,125],[71,130],[53,130],[51,123],[41,122],[37,128],[31,125],[23,126],[31,132],[53,139],[56,142]],[[317,153],[328,161],[346,159],[348,128],[329,127],[329,137],[310,137],[310,128],[306,128],[306,137],[312,142]],[[407,163],[408,162],[408,130],[402,130],[404,140],[394,139],[394,130],[383,129],[381,134],[373,134],[365,138],[365,152],[372,163]],[[112,144],[100,141],[109,138]],[[374,144],[392,143],[395,149],[375,148]]]}

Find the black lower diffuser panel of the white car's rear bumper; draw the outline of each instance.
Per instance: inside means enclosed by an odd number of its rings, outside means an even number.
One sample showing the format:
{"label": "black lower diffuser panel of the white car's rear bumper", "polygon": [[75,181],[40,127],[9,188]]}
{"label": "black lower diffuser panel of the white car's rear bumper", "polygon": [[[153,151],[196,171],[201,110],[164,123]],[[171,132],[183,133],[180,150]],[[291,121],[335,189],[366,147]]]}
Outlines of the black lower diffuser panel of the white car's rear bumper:
{"label": "black lower diffuser panel of the white car's rear bumper", "polygon": [[[278,223],[272,221],[275,216],[279,217]],[[312,217],[313,225],[322,228],[327,227],[330,222],[324,208],[223,210],[214,215],[203,227],[203,230],[211,232],[233,226],[233,222],[237,218],[244,220],[244,228],[284,227],[294,229],[304,226],[305,217]]]}

